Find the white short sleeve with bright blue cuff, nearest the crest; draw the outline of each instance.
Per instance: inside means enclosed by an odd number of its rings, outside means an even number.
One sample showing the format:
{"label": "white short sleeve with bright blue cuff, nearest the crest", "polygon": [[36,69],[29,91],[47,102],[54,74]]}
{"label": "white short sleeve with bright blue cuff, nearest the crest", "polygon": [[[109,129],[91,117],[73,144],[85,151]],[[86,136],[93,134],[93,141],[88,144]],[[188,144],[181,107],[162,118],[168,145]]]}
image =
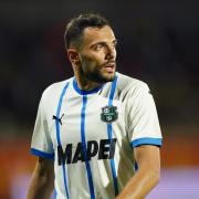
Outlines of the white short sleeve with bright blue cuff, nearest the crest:
{"label": "white short sleeve with bright blue cuff, nearest the crest", "polygon": [[128,138],[133,147],[161,146],[161,132],[154,97],[144,83],[133,88],[127,100]]}

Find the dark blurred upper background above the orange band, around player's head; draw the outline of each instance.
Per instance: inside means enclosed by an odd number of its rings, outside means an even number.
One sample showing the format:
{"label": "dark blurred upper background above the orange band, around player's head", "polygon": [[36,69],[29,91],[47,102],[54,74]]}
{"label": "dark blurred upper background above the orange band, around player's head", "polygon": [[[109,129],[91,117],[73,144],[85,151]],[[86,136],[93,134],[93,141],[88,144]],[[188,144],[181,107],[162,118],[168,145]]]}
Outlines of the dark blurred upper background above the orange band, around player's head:
{"label": "dark blurred upper background above the orange band, around player's head", "polygon": [[111,21],[118,39],[118,71],[149,84],[161,124],[196,124],[199,12],[195,1],[18,1],[0,7],[0,126],[32,126],[43,90],[73,75],[63,34],[69,19],[85,11]]}

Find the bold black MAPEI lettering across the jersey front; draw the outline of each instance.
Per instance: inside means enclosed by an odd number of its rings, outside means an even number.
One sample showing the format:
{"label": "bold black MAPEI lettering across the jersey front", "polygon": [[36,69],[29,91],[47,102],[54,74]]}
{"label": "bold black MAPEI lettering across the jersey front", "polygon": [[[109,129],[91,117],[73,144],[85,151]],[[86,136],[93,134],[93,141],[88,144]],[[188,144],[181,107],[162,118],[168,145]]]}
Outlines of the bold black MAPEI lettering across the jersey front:
{"label": "bold black MAPEI lettering across the jersey front", "polygon": [[97,159],[113,159],[115,155],[116,138],[88,140],[87,145],[84,143],[77,143],[75,153],[73,155],[73,144],[67,144],[65,150],[62,146],[57,146],[57,164],[76,164],[77,161],[91,160],[93,157]]}

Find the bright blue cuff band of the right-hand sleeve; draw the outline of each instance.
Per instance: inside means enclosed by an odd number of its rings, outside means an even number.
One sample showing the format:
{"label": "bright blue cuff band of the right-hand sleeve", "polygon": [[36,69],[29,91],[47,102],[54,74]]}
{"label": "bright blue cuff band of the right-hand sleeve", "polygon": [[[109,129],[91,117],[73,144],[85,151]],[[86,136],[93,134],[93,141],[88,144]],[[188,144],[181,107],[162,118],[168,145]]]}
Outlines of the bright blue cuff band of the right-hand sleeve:
{"label": "bright blue cuff band of the right-hand sleeve", "polygon": [[144,137],[135,139],[130,143],[132,147],[137,147],[140,145],[155,145],[155,146],[161,146],[163,145],[163,138],[151,138],[151,137]]}

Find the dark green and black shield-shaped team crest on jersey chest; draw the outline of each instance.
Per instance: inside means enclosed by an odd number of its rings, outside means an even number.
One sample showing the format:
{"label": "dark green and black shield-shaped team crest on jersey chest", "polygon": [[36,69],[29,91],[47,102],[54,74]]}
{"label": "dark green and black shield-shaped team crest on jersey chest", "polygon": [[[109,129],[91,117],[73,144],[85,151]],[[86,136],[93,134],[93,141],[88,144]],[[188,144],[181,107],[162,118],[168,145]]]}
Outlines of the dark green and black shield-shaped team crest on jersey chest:
{"label": "dark green and black shield-shaped team crest on jersey chest", "polygon": [[113,123],[118,118],[117,106],[105,106],[102,108],[101,119],[105,123]]}

